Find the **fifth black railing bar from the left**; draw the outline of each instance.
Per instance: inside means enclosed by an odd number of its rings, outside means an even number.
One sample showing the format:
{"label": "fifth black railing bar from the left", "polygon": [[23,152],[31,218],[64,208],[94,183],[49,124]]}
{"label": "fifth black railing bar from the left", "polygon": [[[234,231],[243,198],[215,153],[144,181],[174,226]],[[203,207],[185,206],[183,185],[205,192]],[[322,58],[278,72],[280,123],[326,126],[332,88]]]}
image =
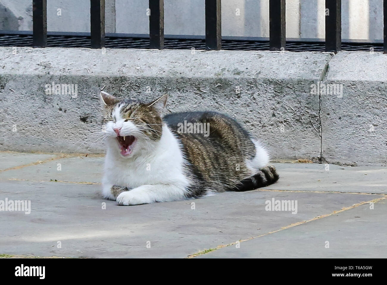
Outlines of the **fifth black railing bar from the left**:
{"label": "fifth black railing bar from the left", "polygon": [[270,50],[285,50],[286,21],[285,0],[269,1]]}

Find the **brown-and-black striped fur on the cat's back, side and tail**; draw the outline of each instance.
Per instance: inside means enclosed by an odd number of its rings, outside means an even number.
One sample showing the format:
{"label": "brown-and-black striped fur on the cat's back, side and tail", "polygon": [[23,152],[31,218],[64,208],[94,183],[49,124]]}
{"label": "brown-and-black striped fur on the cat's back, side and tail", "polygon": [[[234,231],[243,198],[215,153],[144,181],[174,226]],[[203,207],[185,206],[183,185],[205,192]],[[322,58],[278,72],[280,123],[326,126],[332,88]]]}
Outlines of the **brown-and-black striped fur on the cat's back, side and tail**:
{"label": "brown-and-black striped fur on the cat's back, side and tail", "polygon": [[[247,191],[265,187],[279,178],[273,166],[256,171],[246,161],[253,159],[256,148],[252,136],[234,119],[218,112],[182,112],[163,120],[180,138],[190,162],[187,175],[195,181],[188,187],[188,197],[208,192]],[[209,123],[210,135],[178,133],[178,123]]]}

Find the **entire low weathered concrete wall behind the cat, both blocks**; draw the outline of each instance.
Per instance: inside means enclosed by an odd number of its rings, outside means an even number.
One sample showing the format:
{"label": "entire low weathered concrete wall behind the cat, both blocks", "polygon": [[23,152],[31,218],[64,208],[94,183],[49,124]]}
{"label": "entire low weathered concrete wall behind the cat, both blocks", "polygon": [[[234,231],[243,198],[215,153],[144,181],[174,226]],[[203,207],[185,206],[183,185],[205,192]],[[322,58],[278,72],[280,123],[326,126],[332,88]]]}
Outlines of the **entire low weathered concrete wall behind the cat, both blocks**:
{"label": "entire low weathered concrete wall behind the cat, both blocks", "polygon": [[[0,48],[0,150],[103,152],[99,90],[168,110],[216,110],[274,158],[387,164],[387,56],[381,53]],[[313,86],[335,84],[332,92]],[[46,84],[77,85],[46,94]],[[340,92],[342,86],[342,93]],[[336,93],[335,93],[336,92]]]}

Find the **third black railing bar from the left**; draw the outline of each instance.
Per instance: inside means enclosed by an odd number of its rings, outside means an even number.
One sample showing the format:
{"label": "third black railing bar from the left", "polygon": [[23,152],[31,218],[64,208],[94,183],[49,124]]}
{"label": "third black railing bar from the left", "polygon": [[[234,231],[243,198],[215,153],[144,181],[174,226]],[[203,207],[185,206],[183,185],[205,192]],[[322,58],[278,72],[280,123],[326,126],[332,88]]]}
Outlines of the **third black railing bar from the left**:
{"label": "third black railing bar from the left", "polygon": [[149,0],[149,47],[164,48],[164,0]]}

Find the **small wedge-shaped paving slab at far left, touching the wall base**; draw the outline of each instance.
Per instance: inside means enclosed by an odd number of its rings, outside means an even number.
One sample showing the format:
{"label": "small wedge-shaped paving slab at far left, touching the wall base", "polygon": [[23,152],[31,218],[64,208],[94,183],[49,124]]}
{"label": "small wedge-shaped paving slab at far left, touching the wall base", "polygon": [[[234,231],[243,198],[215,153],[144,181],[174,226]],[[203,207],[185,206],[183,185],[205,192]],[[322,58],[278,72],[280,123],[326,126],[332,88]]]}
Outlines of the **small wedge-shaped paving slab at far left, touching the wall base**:
{"label": "small wedge-shaped paving slab at far left, touching the wall base", "polygon": [[56,155],[54,154],[23,154],[18,152],[0,152],[0,171],[37,161],[44,161],[55,156]]}

